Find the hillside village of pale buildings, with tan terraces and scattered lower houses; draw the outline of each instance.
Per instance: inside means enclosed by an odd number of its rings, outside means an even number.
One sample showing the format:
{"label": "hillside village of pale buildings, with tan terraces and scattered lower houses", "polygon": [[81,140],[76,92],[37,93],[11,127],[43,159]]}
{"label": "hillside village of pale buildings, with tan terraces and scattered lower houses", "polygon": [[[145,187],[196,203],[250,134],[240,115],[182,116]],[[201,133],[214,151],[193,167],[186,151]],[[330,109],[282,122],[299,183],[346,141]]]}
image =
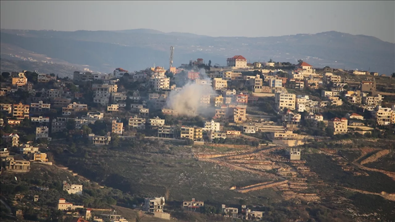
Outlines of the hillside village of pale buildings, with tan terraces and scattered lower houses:
{"label": "hillside village of pale buildings, with tan terraces and scattered lower houses", "polygon": [[[309,145],[347,138],[395,139],[394,77],[313,68],[302,60],[298,64],[247,61],[235,55],[226,60],[227,66],[219,67],[198,58],[169,69],[154,66],[132,72],[116,68],[108,74],[75,71],[72,79],[39,71],[4,72],[0,88],[1,177],[15,174],[17,180],[37,169],[35,166],[55,167],[64,145],[69,153],[76,153],[79,146],[115,149],[130,138],[186,147],[248,146],[262,150],[226,155],[196,152],[194,157],[269,179],[232,186],[235,192],[273,188],[288,199],[299,196],[314,202],[320,197],[309,189],[322,182],[308,181],[318,177],[306,165],[308,161],[301,159]],[[395,143],[387,145],[385,150],[395,149]],[[346,164],[343,169],[354,170]],[[384,174],[395,178],[393,171]],[[59,186],[64,192],[56,193],[59,196],[51,204],[63,218],[137,221],[126,219],[115,209],[92,213],[92,207],[66,198],[83,195],[82,182],[62,181]],[[15,198],[22,200],[23,190],[18,192]],[[380,195],[394,201],[391,192]],[[31,201],[40,198],[33,196]],[[174,220],[167,201],[165,193],[144,196],[130,208],[152,218]],[[177,201],[182,201],[178,208],[183,211],[215,211],[225,218],[242,220],[265,218],[264,209],[243,201],[239,205],[221,203],[216,209],[205,207],[205,201],[194,197]],[[11,209],[15,218],[23,218],[22,208]]]}

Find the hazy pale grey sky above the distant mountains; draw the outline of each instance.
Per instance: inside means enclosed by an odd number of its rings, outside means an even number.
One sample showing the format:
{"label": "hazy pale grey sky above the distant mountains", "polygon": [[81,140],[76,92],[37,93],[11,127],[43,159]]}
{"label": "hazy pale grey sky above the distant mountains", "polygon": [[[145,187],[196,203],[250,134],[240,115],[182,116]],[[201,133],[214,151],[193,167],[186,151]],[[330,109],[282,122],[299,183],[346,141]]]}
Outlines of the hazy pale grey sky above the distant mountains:
{"label": "hazy pale grey sky above the distant mountains", "polygon": [[395,42],[395,1],[1,1],[1,28],[208,36],[339,31]]}

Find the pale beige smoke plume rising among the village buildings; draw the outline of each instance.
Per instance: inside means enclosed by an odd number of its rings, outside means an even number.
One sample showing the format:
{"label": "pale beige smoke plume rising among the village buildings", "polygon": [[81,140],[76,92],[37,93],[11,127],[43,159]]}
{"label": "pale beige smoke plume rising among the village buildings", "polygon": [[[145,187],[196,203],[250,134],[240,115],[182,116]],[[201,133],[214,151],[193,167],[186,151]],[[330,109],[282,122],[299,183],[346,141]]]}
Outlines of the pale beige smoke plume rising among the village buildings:
{"label": "pale beige smoke plume rising among the village buildings", "polygon": [[[203,80],[211,83],[211,79],[207,76],[204,69],[199,70]],[[207,115],[213,108],[206,107],[201,104],[201,98],[216,94],[212,86],[209,84],[198,84],[193,81],[188,81],[181,90],[171,91],[167,96],[167,107],[179,113],[179,115],[186,115],[194,117],[197,115]]]}

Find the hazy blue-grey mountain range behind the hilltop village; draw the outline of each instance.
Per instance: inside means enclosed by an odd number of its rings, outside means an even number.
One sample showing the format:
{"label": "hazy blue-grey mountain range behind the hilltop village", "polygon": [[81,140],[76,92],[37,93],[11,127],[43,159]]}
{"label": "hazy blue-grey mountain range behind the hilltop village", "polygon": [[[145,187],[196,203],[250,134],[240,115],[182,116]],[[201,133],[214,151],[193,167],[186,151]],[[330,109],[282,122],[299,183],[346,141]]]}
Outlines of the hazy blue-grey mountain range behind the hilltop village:
{"label": "hazy blue-grey mountain range behind the hilltop village", "polygon": [[142,70],[154,64],[167,68],[170,46],[175,47],[173,66],[197,58],[203,58],[205,63],[211,60],[213,65],[226,65],[226,58],[243,55],[249,62],[273,59],[297,63],[303,59],[316,67],[370,70],[387,75],[395,71],[394,43],[335,31],[247,38],[152,29],[75,32],[2,29],[0,43],[2,58],[17,55],[23,49],[33,60],[40,55],[47,62],[106,73],[115,68]]}

